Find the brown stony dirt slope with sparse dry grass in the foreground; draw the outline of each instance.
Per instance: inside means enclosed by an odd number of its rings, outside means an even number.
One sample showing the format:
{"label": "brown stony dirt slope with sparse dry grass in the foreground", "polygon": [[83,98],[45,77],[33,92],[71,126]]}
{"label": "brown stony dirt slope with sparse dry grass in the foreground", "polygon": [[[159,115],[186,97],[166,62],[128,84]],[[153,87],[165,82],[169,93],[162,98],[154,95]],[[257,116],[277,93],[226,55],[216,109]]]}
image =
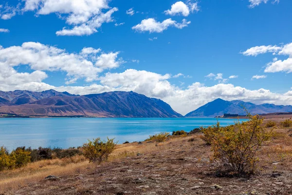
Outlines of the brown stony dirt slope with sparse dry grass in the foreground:
{"label": "brown stony dirt slope with sparse dry grass in the foreground", "polygon": [[[279,122],[281,119],[275,119]],[[259,151],[258,173],[217,177],[200,135],[122,144],[110,162],[6,189],[2,195],[292,195],[292,131],[278,129]]]}

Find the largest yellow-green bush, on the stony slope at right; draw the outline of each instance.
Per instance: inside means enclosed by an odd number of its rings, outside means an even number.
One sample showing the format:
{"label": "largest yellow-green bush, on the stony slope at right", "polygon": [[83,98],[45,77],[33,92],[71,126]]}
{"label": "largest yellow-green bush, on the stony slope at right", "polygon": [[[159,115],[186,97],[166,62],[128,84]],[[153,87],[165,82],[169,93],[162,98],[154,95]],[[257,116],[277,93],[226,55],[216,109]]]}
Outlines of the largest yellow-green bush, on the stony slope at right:
{"label": "largest yellow-green bush, on the stony slope at right", "polygon": [[235,125],[216,126],[203,129],[202,139],[211,144],[212,161],[222,171],[237,174],[253,174],[256,169],[256,152],[264,141],[272,137],[272,131],[263,126],[263,119],[250,116],[250,120]]}

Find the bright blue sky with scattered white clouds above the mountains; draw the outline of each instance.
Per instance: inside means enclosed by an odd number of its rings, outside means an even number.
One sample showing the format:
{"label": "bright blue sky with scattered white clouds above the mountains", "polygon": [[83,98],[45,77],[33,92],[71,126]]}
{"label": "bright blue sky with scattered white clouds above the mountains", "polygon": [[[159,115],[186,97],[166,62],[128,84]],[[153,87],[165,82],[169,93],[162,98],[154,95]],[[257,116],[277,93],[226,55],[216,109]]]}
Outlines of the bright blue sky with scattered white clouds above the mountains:
{"label": "bright blue sky with scattered white clouds above the mountains", "polygon": [[0,90],[292,104],[291,0],[0,0]]}

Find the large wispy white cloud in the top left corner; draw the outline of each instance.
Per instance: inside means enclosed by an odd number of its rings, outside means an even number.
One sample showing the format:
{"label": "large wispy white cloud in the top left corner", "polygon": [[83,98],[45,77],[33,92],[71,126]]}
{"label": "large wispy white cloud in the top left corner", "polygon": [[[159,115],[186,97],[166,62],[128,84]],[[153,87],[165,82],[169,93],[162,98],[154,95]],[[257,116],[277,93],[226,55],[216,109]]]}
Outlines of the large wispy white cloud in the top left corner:
{"label": "large wispy white cloud in the top left corner", "polygon": [[[110,8],[110,0],[22,0],[17,7],[6,5],[1,11],[2,19],[10,19],[16,13],[35,11],[36,15],[55,13],[72,27],[57,31],[58,36],[83,36],[98,32],[103,23],[112,22],[112,14],[118,9]],[[104,12],[105,10],[108,10]]]}

